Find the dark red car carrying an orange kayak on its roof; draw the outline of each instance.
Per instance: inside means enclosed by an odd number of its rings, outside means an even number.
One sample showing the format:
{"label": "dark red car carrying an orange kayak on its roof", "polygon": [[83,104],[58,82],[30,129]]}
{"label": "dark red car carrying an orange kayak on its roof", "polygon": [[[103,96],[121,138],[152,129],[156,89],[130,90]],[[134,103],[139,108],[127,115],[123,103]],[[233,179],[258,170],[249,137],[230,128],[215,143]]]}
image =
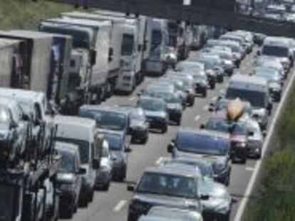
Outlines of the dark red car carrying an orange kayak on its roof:
{"label": "dark red car carrying an orange kayak on its roof", "polygon": [[241,163],[247,162],[248,149],[247,142],[250,132],[244,122],[237,122],[227,118],[226,112],[218,112],[210,117],[205,124],[201,125],[202,129],[209,131],[219,131],[224,134],[230,134],[232,161]]}

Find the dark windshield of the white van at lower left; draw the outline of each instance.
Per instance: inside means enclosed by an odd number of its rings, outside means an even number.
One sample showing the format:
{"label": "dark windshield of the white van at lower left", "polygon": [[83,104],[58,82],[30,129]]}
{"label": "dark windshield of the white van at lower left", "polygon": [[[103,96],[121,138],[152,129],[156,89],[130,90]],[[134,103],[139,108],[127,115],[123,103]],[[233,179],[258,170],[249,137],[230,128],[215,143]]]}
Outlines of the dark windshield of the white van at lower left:
{"label": "dark windshield of the white van at lower left", "polygon": [[76,144],[79,147],[81,163],[86,164],[89,163],[89,150],[90,144],[88,141],[81,141],[78,139],[69,139],[64,137],[56,137],[56,141],[66,142],[68,144]]}

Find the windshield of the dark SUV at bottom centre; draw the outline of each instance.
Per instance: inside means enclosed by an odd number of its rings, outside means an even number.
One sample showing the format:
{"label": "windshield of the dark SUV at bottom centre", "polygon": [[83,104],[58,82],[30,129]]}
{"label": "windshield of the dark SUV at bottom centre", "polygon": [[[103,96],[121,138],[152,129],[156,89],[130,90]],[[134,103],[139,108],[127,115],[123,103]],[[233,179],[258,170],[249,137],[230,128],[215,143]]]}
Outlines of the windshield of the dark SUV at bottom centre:
{"label": "windshield of the dark SUV at bottom centre", "polygon": [[138,184],[138,193],[195,198],[197,184],[194,178],[165,173],[145,172]]}

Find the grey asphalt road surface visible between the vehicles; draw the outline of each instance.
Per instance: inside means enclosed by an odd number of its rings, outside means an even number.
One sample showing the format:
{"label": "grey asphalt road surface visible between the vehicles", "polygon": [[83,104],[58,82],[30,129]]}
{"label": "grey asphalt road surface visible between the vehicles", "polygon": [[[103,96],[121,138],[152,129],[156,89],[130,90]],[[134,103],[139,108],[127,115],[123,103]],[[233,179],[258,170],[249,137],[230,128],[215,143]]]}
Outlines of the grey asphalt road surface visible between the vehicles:
{"label": "grey asphalt road surface visible between the vehicles", "polygon": [[[254,52],[255,53],[255,52]],[[239,71],[242,74],[249,74],[252,69],[252,62],[254,60],[254,53],[247,55],[240,65]],[[196,53],[191,53],[190,56],[195,56]],[[289,75],[289,78],[291,76]],[[146,77],[145,81],[133,92],[130,96],[118,96],[114,95],[101,105],[114,105],[114,104],[132,104],[136,102],[137,93],[153,80],[157,80],[156,77]],[[205,123],[210,116],[210,112],[207,110],[208,104],[216,99],[217,96],[225,89],[228,82],[228,77],[224,78],[224,83],[217,84],[215,90],[209,90],[206,99],[196,97],[194,107],[187,107],[182,117],[182,127],[190,127],[198,129],[200,124]],[[286,80],[289,82],[289,80]],[[288,85],[287,83],[285,84]],[[274,116],[278,104],[274,103],[274,111],[271,117]],[[271,122],[271,119],[269,120]],[[128,182],[137,181],[142,175],[145,168],[161,163],[163,157],[168,157],[167,144],[175,136],[175,133],[179,126],[170,126],[167,134],[155,134],[150,133],[148,143],[145,145],[132,144],[132,152],[128,158],[128,176],[125,183],[112,183],[108,192],[97,191],[93,203],[90,203],[88,207],[79,208],[73,220],[77,221],[121,221],[127,220],[128,216],[128,200],[132,193],[127,191]],[[240,202],[243,199],[243,195],[247,190],[249,180],[256,168],[257,160],[249,159],[247,164],[239,165],[232,164],[232,176],[229,184],[229,192],[237,200],[232,207],[231,220],[234,217],[239,208]],[[236,221],[236,220],[235,220]]]}

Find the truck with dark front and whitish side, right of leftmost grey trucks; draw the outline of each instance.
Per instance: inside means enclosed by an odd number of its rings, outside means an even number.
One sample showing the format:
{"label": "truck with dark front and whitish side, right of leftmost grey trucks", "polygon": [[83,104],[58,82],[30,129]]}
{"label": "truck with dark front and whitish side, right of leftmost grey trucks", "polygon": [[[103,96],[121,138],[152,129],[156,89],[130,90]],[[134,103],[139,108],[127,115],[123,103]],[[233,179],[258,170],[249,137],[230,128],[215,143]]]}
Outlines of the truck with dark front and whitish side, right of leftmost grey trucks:
{"label": "truck with dark front and whitish side, right of leftmost grey trucks", "polygon": [[[51,18],[41,21],[40,31],[73,37],[68,97],[75,111],[83,103],[103,101],[117,75],[108,75],[110,60],[110,22],[76,18]],[[99,54],[98,54],[99,53]],[[67,106],[67,105],[65,105]],[[73,106],[73,107],[72,107]]]}

